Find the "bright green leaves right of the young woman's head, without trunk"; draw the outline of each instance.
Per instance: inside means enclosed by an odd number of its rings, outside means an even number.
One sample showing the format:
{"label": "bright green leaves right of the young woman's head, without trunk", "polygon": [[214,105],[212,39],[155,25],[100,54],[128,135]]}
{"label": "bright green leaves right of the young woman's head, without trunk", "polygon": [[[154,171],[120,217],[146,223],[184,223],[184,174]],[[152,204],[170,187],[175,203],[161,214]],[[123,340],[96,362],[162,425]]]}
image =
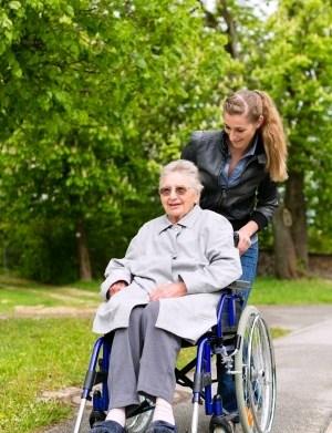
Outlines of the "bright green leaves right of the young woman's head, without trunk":
{"label": "bright green leaves right of the young woman's head, without trunk", "polygon": [[281,109],[290,172],[304,173],[312,249],[332,251],[332,7],[322,0],[282,0],[267,22],[253,76]]}

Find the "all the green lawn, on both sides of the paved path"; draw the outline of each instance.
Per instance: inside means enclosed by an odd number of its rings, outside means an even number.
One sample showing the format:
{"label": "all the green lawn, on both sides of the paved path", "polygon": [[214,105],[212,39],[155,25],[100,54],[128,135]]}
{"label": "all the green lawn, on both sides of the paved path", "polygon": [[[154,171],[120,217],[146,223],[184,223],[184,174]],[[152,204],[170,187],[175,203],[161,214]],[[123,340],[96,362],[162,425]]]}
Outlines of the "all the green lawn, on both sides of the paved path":
{"label": "all the green lawn, on both sides of the paved path", "polygon": [[[98,283],[63,287],[0,276],[0,431],[32,433],[70,416],[72,408],[41,400],[43,391],[81,386],[95,340],[92,315],[69,318],[21,318],[20,311],[71,307],[94,309]],[[332,303],[332,281],[277,281],[260,278],[250,303]],[[32,310],[33,311],[33,310]],[[272,330],[278,337],[283,330]],[[193,355],[183,351],[179,364]]]}

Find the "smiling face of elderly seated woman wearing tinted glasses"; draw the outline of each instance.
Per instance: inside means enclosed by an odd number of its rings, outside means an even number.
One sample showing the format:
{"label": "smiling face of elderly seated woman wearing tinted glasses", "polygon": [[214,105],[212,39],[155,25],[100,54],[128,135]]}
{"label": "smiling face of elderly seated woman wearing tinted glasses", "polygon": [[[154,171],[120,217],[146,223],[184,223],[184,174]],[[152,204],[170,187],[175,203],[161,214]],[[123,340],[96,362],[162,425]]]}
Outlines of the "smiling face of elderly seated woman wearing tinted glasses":
{"label": "smiling face of elderly seated woman wearing tinted glasses", "polygon": [[191,179],[176,172],[162,178],[159,194],[162,205],[172,223],[177,223],[188,214],[199,199]]}

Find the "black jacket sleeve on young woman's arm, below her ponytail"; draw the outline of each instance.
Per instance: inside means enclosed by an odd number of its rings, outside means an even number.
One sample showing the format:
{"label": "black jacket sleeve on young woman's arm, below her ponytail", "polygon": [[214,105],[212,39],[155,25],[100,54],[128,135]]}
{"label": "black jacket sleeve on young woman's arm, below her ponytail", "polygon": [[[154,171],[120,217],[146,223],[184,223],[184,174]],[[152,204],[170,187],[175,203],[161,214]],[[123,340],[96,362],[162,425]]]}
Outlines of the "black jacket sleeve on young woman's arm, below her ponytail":
{"label": "black jacket sleeve on young woman's arm, below her ponytail", "polygon": [[257,223],[259,230],[264,228],[278,207],[277,184],[267,175],[258,186],[257,205],[251,219]]}

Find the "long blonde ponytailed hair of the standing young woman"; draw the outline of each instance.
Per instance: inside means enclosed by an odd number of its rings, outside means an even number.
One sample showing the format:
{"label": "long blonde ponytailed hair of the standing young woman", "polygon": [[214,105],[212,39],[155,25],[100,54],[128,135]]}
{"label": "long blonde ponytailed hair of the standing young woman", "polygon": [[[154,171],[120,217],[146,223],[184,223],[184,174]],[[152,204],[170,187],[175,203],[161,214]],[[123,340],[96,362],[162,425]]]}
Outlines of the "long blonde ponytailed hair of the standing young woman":
{"label": "long blonde ponytailed hair of the standing young woman", "polygon": [[268,93],[258,90],[239,90],[225,100],[224,113],[245,114],[252,123],[256,123],[261,115],[263,116],[259,131],[267,154],[266,169],[272,181],[286,181],[288,178],[288,152],[284,131],[280,114]]}

